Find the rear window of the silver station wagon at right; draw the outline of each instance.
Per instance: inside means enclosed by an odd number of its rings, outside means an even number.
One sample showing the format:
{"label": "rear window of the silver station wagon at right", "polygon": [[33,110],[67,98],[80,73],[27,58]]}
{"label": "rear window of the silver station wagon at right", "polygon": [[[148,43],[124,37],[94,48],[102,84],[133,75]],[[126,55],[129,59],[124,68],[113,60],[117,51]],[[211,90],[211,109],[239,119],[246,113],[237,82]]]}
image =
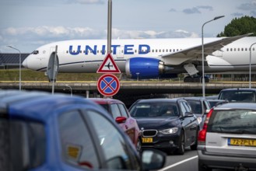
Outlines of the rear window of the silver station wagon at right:
{"label": "rear window of the silver station wagon at right", "polygon": [[256,134],[255,110],[216,110],[209,131],[233,134]]}

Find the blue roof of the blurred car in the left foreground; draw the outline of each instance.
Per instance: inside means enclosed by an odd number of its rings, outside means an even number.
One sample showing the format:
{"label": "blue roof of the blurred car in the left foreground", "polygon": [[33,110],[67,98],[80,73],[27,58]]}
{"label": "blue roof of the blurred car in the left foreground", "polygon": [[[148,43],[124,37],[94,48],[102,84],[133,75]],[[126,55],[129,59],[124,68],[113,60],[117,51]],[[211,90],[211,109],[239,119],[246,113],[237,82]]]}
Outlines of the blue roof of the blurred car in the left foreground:
{"label": "blue roof of the blurred car in the left foreground", "polygon": [[8,117],[27,117],[44,121],[54,114],[58,106],[72,104],[96,105],[82,97],[61,93],[51,95],[49,92],[0,90],[0,113]]}

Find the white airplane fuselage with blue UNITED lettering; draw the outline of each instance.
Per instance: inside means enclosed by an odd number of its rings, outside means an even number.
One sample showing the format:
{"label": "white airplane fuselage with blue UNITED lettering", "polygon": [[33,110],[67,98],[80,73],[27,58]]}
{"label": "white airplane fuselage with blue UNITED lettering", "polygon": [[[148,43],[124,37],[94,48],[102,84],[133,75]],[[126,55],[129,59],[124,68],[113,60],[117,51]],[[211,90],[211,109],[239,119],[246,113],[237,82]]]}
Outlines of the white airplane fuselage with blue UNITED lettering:
{"label": "white airplane fuselage with blue UNITED lettering", "polygon": [[[204,38],[204,44],[219,40],[220,38]],[[205,61],[205,72],[246,72],[249,70],[250,57],[251,69],[256,64],[256,37],[244,37],[224,46],[218,51],[209,54]],[[202,46],[201,38],[177,39],[132,39],[112,40],[111,54],[121,72],[125,72],[125,62],[128,58],[157,58],[164,65],[173,67],[170,73],[186,72],[179,58],[162,58],[164,54],[175,54],[186,49]],[[58,72],[96,72],[107,55],[107,40],[65,40],[39,47],[30,54],[23,66],[36,71],[46,71],[51,53],[58,46]],[[205,49],[206,53],[207,49]],[[251,54],[250,54],[251,52]],[[186,55],[186,54],[184,54]],[[189,58],[184,57],[184,58]],[[202,71],[202,53],[189,62],[199,61],[196,68]],[[188,62],[188,63],[189,63]]]}

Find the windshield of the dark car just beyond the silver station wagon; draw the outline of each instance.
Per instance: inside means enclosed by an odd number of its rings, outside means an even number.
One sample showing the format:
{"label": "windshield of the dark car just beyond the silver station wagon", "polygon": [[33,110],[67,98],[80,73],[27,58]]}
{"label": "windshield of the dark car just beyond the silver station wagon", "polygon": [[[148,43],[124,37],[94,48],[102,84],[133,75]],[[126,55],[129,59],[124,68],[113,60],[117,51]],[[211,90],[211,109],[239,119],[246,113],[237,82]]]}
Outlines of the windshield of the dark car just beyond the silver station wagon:
{"label": "windshield of the dark car just beyond the silver station wagon", "polygon": [[219,99],[227,99],[230,102],[256,102],[255,92],[246,90],[223,91],[220,93]]}

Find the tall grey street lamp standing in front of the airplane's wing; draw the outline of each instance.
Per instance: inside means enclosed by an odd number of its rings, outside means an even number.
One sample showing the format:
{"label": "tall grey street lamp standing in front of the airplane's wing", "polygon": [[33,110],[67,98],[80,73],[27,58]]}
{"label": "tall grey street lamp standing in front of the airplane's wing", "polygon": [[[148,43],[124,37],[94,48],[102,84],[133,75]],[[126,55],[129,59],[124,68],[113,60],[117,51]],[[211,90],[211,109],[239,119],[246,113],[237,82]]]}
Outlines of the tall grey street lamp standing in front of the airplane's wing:
{"label": "tall grey street lamp standing in front of the airplane's wing", "polygon": [[205,97],[205,54],[204,54],[204,26],[216,19],[223,18],[224,16],[216,16],[214,19],[205,22],[202,25],[202,96]]}

